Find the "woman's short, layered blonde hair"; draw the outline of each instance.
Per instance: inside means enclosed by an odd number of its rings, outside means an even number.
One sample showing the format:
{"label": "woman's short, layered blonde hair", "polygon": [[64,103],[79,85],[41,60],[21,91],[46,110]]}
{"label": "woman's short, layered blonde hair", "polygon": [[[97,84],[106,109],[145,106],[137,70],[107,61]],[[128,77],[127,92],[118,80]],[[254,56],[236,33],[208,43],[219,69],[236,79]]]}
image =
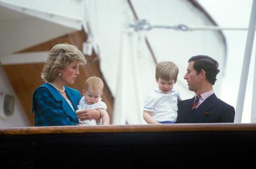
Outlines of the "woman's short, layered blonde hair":
{"label": "woman's short, layered blonde hair", "polygon": [[59,75],[59,70],[72,61],[78,61],[80,65],[86,64],[84,55],[77,46],[68,43],[56,44],[49,52],[41,78],[45,82],[53,82]]}

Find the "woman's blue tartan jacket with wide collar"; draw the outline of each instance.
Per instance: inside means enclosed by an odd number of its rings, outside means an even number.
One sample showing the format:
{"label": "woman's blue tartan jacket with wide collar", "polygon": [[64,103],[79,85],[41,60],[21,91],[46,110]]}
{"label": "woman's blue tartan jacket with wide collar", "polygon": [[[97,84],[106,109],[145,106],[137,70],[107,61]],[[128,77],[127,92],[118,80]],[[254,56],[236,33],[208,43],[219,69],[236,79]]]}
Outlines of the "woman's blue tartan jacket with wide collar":
{"label": "woman's blue tartan jacket with wide collar", "polygon": [[[64,86],[74,111],[81,99],[78,90]],[[33,93],[31,114],[35,111],[35,126],[73,126],[78,124],[75,112],[52,85],[45,83]]]}

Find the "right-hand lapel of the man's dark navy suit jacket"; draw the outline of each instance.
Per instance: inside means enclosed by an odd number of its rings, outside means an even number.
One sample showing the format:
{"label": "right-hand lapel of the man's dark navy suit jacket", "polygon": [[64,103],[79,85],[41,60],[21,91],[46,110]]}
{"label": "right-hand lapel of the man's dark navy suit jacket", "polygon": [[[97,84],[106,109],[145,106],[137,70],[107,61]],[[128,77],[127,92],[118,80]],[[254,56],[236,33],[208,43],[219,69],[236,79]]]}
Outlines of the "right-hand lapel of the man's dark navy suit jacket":
{"label": "right-hand lapel of the man's dark navy suit jacket", "polygon": [[215,94],[209,96],[202,104],[200,104],[194,112],[191,113],[189,123],[195,123],[205,112],[208,112],[218,103],[218,98]]}

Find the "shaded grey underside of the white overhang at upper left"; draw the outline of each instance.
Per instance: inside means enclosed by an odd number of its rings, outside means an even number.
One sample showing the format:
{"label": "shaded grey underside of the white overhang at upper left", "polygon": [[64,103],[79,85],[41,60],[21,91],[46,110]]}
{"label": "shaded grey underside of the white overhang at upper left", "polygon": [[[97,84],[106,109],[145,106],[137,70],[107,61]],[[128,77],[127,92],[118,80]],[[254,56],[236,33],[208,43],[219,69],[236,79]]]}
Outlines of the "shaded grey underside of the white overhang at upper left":
{"label": "shaded grey underside of the white overhang at upper left", "polygon": [[0,57],[73,31],[37,18],[0,20]]}

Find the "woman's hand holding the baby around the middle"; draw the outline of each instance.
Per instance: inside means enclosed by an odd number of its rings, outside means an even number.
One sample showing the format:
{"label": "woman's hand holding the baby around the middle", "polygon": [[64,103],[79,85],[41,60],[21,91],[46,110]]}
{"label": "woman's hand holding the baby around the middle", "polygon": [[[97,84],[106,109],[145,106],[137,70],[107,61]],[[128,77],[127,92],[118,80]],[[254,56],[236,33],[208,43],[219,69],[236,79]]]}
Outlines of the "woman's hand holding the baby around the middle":
{"label": "woman's hand holding the baby around the middle", "polygon": [[96,121],[100,120],[100,112],[94,109],[77,110],[76,116],[78,119],[80,119],[80,121],[92,119],[95,119]]}

